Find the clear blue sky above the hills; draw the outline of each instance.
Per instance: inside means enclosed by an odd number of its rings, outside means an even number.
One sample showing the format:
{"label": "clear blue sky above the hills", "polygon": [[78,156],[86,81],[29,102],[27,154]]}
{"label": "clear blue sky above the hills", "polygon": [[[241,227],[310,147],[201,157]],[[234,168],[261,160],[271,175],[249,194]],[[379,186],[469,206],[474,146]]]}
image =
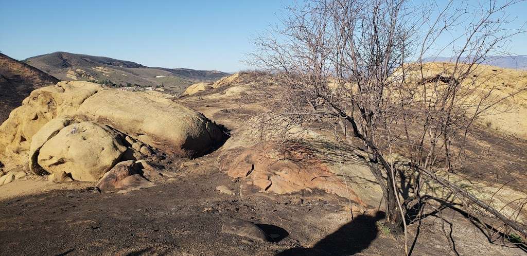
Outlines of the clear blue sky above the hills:
{"label": "clear blue sky above the hills", "polygon": [[[439,2],[445,0],[438,0]],[[0,51],[18,60],[57,51],[147,66],[235,72],[251,38],[293,0],[0,0]],[[527,21],[527,2],[510,11]],[[527,35],[511,52],[527,55]]]}

